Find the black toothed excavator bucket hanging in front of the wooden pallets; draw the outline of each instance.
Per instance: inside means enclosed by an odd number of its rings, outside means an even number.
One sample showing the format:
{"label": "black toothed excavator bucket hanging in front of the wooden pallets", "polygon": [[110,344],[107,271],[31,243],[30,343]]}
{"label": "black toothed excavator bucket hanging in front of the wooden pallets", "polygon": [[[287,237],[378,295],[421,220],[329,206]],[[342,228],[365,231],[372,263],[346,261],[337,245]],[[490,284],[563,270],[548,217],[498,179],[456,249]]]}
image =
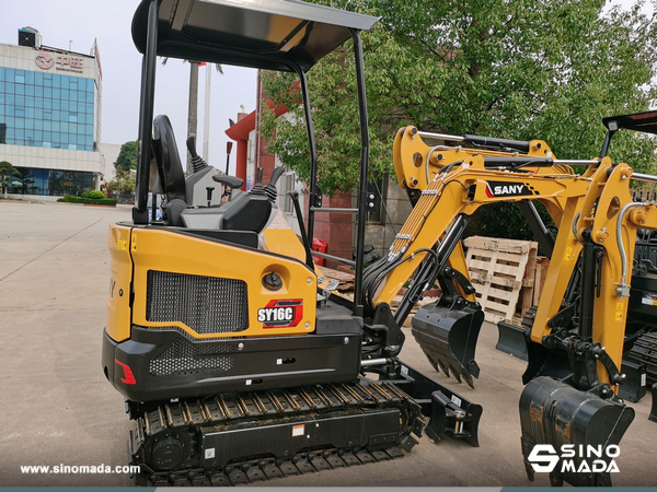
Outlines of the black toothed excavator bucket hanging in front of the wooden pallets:
{"label": "black toothed excavator bucket hanging in front of the wooden pallets", "polygon": [[413,318],[413,336],[431,365],[459,383],[461,377],[474,388],[480,368],[474,349],[484,323],[484,313],[472,307],[449,308],[439,302],[420,307]]}

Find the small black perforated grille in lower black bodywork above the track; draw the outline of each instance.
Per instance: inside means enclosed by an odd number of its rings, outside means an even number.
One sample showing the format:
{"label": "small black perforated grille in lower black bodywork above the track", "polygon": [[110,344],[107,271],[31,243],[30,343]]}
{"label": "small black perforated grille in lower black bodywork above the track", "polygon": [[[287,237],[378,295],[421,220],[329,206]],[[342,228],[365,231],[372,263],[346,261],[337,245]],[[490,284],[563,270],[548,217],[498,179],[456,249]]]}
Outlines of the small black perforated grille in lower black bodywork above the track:
{"label": "small black perforated grille in lower black bodywork above the track", "polygon": [[177,376],[210,371],[230,371],[233,367],[233,358],[217,356],[217,354],[235,350],[237,345],[234,344],[199,344],[178,338],[173,345],[150,361],[149,373],[151,376]]}

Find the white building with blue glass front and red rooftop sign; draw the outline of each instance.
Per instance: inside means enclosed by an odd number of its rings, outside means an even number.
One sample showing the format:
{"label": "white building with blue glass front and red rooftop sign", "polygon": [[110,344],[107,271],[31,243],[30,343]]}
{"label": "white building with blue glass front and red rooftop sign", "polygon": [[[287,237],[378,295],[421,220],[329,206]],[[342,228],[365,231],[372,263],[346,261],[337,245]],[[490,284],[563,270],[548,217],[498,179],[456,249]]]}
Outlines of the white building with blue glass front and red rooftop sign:
{"label": "white building with blue glass front and red rooftop sign", "polygon": [[0,161],[20,172],[10,194],[100,189],[102,71],[92,51],[43,46],[33,28],[19,30],[18,46],[0,44]]}

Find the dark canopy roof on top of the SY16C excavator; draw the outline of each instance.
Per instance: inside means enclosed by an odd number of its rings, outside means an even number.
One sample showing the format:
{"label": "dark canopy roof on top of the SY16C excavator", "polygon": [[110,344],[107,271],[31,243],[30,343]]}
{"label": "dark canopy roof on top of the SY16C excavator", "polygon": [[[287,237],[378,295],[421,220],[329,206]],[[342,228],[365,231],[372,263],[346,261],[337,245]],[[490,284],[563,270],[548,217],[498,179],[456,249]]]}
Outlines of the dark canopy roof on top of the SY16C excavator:
{"label": "dark canopy roof on top of the SY16C excavator", "polygon": [[[148,10],[141,0],[132,39],[146,49]],[[378,17],[298,0],[162,0],[158,56],[267,70],[303,71]]]}

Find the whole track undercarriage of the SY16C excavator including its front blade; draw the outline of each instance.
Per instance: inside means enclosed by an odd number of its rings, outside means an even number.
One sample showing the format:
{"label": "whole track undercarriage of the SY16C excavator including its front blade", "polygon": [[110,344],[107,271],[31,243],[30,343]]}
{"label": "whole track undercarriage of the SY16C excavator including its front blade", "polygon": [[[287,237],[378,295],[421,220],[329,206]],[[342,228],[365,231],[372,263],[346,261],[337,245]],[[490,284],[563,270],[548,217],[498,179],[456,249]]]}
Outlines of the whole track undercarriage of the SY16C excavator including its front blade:
{"label": "whole track undercarriage of the SY16C excavator including its front blade", "polygon": [[436,442],[449,433],[476,446],[482,411],[405,365],[389,379],[127,408],[137,421],[128,443],[137,483],[155,487],[234,485],[389,460],[410,452],[425,425]]}

